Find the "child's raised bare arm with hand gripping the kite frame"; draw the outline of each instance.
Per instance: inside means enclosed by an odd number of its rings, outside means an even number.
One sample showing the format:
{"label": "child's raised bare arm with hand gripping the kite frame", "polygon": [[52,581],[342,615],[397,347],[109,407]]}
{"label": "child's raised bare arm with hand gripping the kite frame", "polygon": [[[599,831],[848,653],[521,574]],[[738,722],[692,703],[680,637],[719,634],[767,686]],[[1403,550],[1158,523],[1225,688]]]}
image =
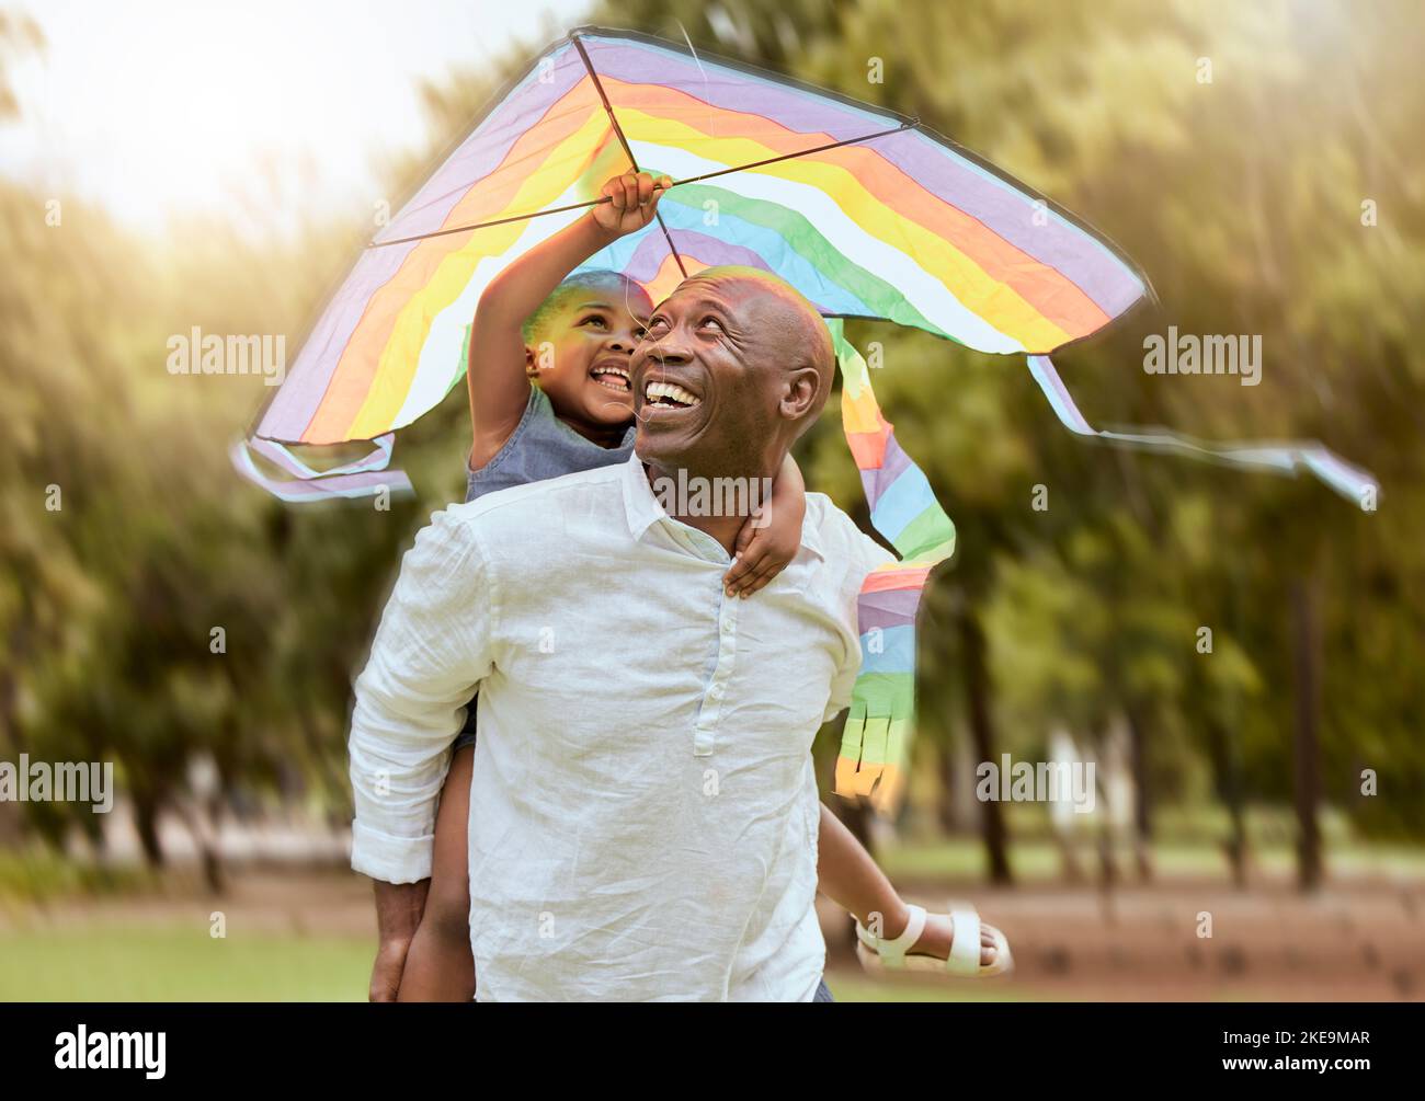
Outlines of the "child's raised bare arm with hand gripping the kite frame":
{"label": "child's raised bare arm with hand gripping the kite frame", "polygon": [[624,234],[646,226],[658,197],[671,185],[668,177],[654,181],[647,172],[614,177],[600,192],[610,197],[608,202],[542,241],[484,288],[470,326],[466,370],[475,433],[472,469],[490,461],[524,416],[530,385],[520,329],[526,319],[574,268]]}

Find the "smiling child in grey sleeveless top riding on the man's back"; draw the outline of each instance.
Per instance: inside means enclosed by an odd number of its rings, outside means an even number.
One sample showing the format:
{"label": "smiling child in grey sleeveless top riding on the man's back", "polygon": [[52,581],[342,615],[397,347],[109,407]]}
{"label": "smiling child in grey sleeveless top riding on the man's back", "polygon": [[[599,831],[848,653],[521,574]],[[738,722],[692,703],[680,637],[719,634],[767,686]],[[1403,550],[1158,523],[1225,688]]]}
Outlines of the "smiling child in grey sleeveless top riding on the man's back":
{"label": "smiling child in grey sleeveless top riding on the man's back", "polygon": [[[569,272],[618,236],[644,228],[670,185],[667,177],[654,181],[644,172],[610,179],[601,192],[610,202],[530,249],[486,288],[470,329],[475,443],[466,500],[628,460],[634,440],[628,358],[643,339],[653,303],[643,288],[614,272]],[[752,595],[795,557],[804,490],[788,459],[772,486],[765,521],[750,517],[737,538],[737,557],[724,577],[728,597]],[[440,793],[430,889],[402,973],[402,1001],[469,1001],[475,996],[467,869],[475,714],[472,701]],[[952,919],[906,906],[825,806],[818,855],[822,892],[861,922],[875,919],[872,929],[882,934],[861,930],[864,956],[881,947],[886,963],[895,963],[909,947],[909,959],[919,964],[946,960]],[[970,937],[975,924],[966,930]],[[988,926],[979,930],[979,969],[995,964],[996,956],[1007,957],[998,936]],[[955,954],[963,957],[968,950],[959,946]],[[969,967],[976,970],[973,956]],[[829,993],[822,988],[818,1000],[829,1000]]]}

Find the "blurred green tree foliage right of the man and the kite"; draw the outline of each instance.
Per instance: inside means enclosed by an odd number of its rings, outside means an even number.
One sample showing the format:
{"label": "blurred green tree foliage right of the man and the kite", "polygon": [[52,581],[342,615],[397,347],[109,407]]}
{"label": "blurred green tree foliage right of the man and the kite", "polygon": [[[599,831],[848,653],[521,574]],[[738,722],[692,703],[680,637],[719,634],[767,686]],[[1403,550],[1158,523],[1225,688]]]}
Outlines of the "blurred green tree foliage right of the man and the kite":
{"label": "blurred green tree foliage right of the man and the kite", "polygon": [[[989,637],[1005,749],[1042,746],[1059,724],[1092,741],[1131,712],[1161,788],[1193,758],[1248,799],[1287,799],[1301,581],[1320,620],[1325,796],[1361,829],[1425,836],[1425,651],[1408,597],[1425,591],[1414,4],[648,0],[596,21],[685,28],[915,114],[1107,231],[1161,302],[1056,358],[1090,422],[1318,437],[1381,477],[1379,510],[1362,511],[1308,480],[1084,443],[1017,360],[852,328],[858,346],[884,343],[881,405],[959,533],[922,618],[923,738],[965,734],[970,617]],[[1143,338],[1168,325],[1260,333],[1261,385],[1146,375]],[[811,479],[855,501],[834,405],[826,420]],[[1375,798],[1359,795],[1362,768],[1379,775]]]}

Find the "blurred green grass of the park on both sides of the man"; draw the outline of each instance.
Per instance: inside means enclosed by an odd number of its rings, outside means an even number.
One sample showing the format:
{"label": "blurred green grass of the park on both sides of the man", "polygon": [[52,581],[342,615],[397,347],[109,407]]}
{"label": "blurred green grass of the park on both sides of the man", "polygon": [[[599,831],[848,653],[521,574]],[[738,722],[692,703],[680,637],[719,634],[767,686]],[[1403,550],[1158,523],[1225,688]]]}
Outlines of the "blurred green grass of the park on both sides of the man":
{"label": "blurred green grass of the park on both sides of the man", "polygon": [[[1093,853],[1083,856],[1092,876]],[[888,845],[878,857],[893,880],[916,883],[922,892],[926,885],[953,885],[953,893],[965,894],[983,882],[983,847],[975,838]],[[1057,882],[1059,856],[1047,842],[1026,838],[1012,847],[1012,860],[1022,885]],[[1160,842],[1154,862],[1157,889],[1174,880],[1227,887],[1220,849],[1200,839]],[[1377,890],[1384,892],[1388,907],[1399,906],[1392,883],[1415,885],[1416,890],[1425,883],[1425,849],[1419,846],[1338,843],[1327,849],[1327,866],[1338,883],[1384,879]],[[1263,879],[1290,882],[1290,847],[1261,843],[1254,867]],[[1124,873],[1131,880],[1127,865]],[[197,903],[195,920],[194,899],[171,883],[160,887],[138,872],[86,872],[41,856],[0,855],[0,917],[11,904],[20,916],[17,922],[0,920],[0,1001],[365,1000],[373,937],[353,934],[369,923],[369,899],[361,885],[343,875],[304,873],[239,887],[232,907],[245,906],[248,919],[262,917],[266,924],[244,920],[229,927],[228,937],[212,939],[202,920],[208,903]],[[1084,890],[1092,892],[1092,885]],[[145,917],[125,909],[134,900],[147,907]],[[53,920],[51,906],[67,910],[73,920]],[[845,1003],[1073,998],[1076,990],[1076,984],[1053,981],[1043,990],[1019,981],[879,983],[855,967],[829,971],[826,984]],[[1264,990],[1271,993],[1273,987]]]}

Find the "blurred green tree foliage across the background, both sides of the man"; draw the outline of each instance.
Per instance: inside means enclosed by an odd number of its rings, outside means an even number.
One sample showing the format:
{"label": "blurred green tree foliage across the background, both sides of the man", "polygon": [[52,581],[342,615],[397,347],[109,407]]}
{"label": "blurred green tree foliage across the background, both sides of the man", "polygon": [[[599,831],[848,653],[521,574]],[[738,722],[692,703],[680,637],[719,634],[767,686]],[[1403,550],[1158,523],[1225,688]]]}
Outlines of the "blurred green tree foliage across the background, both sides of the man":
{"label": "blurred green tree foliage across the background, both sides of the man", "polygon": [[[1301,581],[1320,615],[1327,796],[1358,829],[1425,836],[1414,4],[637,0],[594,21],[685,28],[918,114],[1104,228],[1161,305],[1062,358],[1090,422],[1321,437],[1382,480],[1379,510],[1362,513],[1307,480],[1087,444],[1019,360],[848,326],[861,348],[884,343],[881,403],[959,534],[922,625],[926,743],[965,736],[973,620],[1006,749],[1042,746],[1060,724],[1093,739],[1131,712],[1164,793],[1211,768],[1248,799],[1287,799]],[[23,38],[0,24],[6,43]],[[884,83],[868,83],[872,57]],[[524,60],[432,81],[433,147]],[[420,171],[399,165],[392,194]],[[289,239],[204,221],[140,239],[74,199],[47,225],[44,201],[0,185],[0,758],[115,759],[154,813],[211,756],[229,792],[306,793],[345,813],[351,677],[400,550],[460,493],[463,397],[403,433],[416,500],[389,513],[269,500],[225,454],[265,389],[171,376],[165,340],[192,326],[285,333],[291,362],[361,228]],[[1170,323],[1261,333],[1263,383],[1147,376],[1143,336]],[[859,511],[835,402],[802,457],[814,487]],[[1047,510],[1032,507],[1036,486]],[[1204,625],[1211,655],[1194,645]],[[1361,768],[1379,796],[1358,795]],[[46,813],[58,818],[34,825],[57,838],[64,810]]]}

